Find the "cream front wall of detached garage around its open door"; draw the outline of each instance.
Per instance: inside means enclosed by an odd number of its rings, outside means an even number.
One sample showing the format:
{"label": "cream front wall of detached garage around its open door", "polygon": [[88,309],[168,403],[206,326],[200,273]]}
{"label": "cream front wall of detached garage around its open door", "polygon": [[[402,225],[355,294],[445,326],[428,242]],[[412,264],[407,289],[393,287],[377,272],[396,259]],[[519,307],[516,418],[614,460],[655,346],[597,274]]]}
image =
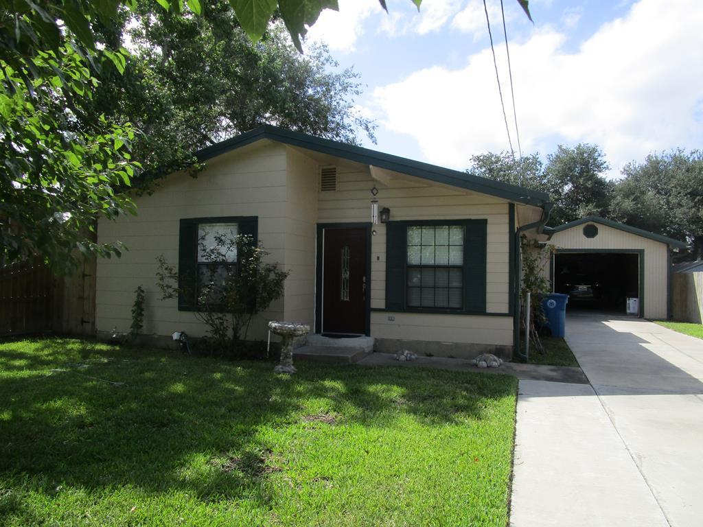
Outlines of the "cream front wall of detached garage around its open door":
{"label": "cream front wall of detached garage around its open door", "polygon": [[[583,235],[583,225],[555,233],[550,244],[557,249],[644,249],[645,276],[640,277],[645,285],[645,318],[666,318],[667,251],[669,247],[661,242],[643,238],[624,230],[593,223],[598,226],[595,238]],[[546,268],[546,273],[549,267]]]}

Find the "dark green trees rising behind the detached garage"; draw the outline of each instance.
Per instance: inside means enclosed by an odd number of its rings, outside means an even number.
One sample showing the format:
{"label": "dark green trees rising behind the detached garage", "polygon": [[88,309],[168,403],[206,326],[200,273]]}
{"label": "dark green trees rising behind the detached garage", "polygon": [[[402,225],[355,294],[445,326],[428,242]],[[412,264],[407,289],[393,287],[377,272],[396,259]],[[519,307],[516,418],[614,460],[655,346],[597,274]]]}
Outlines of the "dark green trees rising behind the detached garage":
{"label": "dark green trees rising behind the detached garage", "polygon": [[543,164],[537,153],[516,159],[510,152],[471,158],[467,172],[541,190],[555,207],[549,225],[596,215],[688,241],[678,259],[703,259],[703,152],[681,149],[631,162],[622,178],[609,179],[597,145],[560,145]]}

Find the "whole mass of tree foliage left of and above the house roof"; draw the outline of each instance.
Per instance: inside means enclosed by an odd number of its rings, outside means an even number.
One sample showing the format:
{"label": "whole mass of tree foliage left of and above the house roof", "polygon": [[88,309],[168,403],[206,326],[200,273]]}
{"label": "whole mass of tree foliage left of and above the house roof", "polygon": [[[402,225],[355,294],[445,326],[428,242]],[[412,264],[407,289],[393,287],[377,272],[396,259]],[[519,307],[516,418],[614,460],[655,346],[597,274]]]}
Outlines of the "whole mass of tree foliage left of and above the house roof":
{"label": "whole mass of tree foliage left of and above the house roof", "polygon": [[[136,213],[125,192],[135,179],[148,184],[258,124],[373,139],[354,107],[357,74],[338,71],[325,48],[295,49],[335,6],[0,0],[0,264],[40,254],[70,268],[77,252],[119,256],[120,244],[95,242],[96,219]],[[269,29],[272,18],[290,39]],[[252,32],[254,22],[263,30]]]}

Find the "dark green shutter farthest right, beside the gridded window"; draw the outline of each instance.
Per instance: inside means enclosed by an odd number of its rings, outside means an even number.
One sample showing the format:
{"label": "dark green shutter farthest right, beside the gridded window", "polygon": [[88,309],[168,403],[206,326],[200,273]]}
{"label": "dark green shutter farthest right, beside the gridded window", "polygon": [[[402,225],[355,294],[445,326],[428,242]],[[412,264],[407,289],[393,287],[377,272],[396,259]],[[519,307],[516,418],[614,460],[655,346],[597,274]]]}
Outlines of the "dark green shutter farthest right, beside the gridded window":
{"label": "dark green shutter farthest right, beside the gridded window", "polygon": [[486,230],[487,220],[466,222],[464,240],[464,298],[465,310],[486,311]]}

